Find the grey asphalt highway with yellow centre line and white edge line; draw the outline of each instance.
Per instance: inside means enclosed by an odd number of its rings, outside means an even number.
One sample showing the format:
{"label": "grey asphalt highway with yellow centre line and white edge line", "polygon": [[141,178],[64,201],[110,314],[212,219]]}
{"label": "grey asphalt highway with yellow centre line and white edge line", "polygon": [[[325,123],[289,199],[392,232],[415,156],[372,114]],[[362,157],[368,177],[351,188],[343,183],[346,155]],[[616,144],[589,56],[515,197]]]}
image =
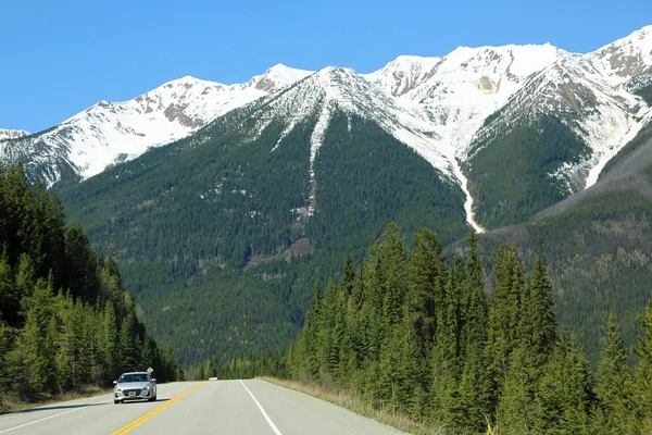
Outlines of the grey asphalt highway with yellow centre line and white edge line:
{"label": "grey asphalt highway with yellow centre line and white edge line", "polygon": [[114,405],[111,395],[0,415],[0,435],[24,434],[402,434],[333,403],[263,381],[159,385],[155,402]]}

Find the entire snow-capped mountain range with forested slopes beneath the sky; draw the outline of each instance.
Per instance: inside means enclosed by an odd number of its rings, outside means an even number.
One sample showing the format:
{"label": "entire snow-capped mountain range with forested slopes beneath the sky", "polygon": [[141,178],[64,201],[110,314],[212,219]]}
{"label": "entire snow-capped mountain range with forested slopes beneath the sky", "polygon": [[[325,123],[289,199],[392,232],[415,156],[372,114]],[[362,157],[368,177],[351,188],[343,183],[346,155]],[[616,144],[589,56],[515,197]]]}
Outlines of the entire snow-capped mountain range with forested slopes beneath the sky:
{"label": "entire snow-capped mountain range with forested slopes beneath the sky", "polygon": [[362,260],[389,221],[444,243],[540,222],[651,120],[648,26],[588,54],[460,47],[371,74],[187,76],[45,132],[0,130],[0,161],[60,191],[154,336],[193,360],[290,343],[315,276]]}

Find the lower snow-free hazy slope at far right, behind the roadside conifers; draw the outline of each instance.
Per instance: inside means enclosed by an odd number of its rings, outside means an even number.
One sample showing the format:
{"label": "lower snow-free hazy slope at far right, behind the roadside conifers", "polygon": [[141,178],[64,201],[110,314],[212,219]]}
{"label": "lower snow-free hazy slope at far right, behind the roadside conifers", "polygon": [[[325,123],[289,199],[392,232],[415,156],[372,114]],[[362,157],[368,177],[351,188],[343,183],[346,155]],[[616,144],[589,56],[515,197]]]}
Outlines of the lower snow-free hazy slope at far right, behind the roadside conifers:
{"label": "lower snow-free hazy slope at far right, behind the roadside conifers", "polygon": [[[577,334],[591,360],[614,311],[627,345],[650,298],[652,281],[652,123],[598,183],[539,213],[530,223],[488,232],[480,240],[489,258],[505,241],[534,261],[540,253],[553,279],[561,324]],[[629,147],[629,145],[627,146]],[[626,148],[627,148],[626,147]]]}

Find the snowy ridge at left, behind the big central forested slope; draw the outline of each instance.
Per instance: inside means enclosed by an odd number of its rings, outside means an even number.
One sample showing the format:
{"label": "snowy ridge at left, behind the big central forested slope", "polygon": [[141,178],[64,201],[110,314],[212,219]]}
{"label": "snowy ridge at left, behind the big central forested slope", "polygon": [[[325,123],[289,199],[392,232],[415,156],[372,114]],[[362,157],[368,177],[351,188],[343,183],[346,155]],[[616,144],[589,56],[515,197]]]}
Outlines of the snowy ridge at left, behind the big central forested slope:
{"label": "snowy ridge at left, behind the big central forested slope", "polygon": [[[100,101],[24,140],[0,141],[0,160],[58,162],[68,165],[82,179],[88,178],[109,164],[140,156],[149,147],[184,138],[215,117],[310,73],[278,64],[237,85],[186,76],[129,101]],[[62,170],[54,167],[40,175],[52,185],[61,179]]]}

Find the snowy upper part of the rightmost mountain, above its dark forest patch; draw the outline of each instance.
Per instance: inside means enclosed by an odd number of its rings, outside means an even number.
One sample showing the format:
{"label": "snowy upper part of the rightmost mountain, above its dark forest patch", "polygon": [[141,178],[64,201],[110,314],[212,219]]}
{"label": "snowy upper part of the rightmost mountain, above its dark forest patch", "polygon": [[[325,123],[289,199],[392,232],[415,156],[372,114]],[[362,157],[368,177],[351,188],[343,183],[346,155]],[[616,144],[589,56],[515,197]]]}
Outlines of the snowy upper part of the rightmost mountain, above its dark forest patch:
{"label": "snowy upper part of the rightmost mountain, above its dark forest patch", "polygon": [[527,77],[502,105],[499,119],[477,129],[474,140],[504,135],[510,125],[532,116],[554,114],[586,141],[591,154],[550,175],[564,179],[569,192],[588,188],[652,120],[649,103],[637,95],[652,84],[651,73],[652,26],[589,54],[560,52],[555,62]]}

